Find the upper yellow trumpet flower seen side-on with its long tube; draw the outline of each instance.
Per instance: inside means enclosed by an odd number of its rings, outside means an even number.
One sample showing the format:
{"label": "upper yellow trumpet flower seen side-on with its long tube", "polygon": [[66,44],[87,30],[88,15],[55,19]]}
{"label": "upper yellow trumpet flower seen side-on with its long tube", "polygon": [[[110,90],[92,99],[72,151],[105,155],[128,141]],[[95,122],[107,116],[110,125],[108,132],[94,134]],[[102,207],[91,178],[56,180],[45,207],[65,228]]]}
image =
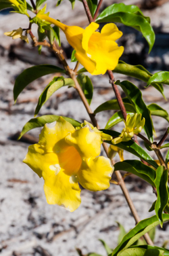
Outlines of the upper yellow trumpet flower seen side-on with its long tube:
{"label": "upper yellow trumpet flower seen side-on with its long tube", "polygon": [[115,24],[106,24],[99,33],[95,32],[99,28],[99,24],[95,22],[82,29],[79,26],[67,26],[41,12],[37,17],[59,26],[64,31],[68,43],[76,50],[75,57],[92,75],[105,74],[107,70],[115,69],[118,65],[124,48],[118,47],[115,42],[122,36]]}

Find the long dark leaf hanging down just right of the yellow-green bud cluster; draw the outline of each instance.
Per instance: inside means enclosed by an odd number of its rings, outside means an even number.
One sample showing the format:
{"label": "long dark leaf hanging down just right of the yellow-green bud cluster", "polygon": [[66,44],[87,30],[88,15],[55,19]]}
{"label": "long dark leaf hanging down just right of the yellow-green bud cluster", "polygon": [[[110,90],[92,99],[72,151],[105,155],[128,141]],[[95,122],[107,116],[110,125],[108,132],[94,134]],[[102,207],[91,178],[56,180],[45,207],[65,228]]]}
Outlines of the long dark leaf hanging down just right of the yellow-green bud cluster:
{"label": "long dark leaf hanging down just right of the yellow-green bud cluster", "polygon": [[151,120],[150,111],[143,101],[141,91],[139,88],[137,88],[137,86],[130,83],[130,81],[122,81],[120,83],[118,80],[116,81],[116,84],[122,87],[122,90],[124,90],[130,102],[135,105],[137,113],[141,113],[142,118],[145,117],[144,130],[149,140],[153,142],[153,122]]}

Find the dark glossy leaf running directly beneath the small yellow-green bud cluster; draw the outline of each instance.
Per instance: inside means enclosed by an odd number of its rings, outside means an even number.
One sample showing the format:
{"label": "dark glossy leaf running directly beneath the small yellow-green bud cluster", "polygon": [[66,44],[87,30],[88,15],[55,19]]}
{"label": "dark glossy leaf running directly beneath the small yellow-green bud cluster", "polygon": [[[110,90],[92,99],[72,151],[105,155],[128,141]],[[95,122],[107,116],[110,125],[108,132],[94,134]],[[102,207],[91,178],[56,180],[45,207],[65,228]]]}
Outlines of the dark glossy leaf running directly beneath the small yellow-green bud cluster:
{"label": "dark glossy leaf running directly beneath the small yellow-green bud cluster", "polygon": [[[104,133],[111,135],[112,137],[116,137],[116,136],[120,135],[119,132],[116,132],[114,130],[105,130],[105,129],[101,129],[101,130]],[[113,145],[111,141],[106,141],[106,143]],[[153,160],[153,158],[151,158],[151,156],[149,156],[149,154],[134,141],[130,140],[127,142],[121,142],[121,143],[116,144],[116,146],[120,147],[120,149],[124,149],[124,150],[132,153],[133,155],[137,156],[138,158],[145,160],[146,162],[151,164],[151,166],[158,168],[158,164]]]}

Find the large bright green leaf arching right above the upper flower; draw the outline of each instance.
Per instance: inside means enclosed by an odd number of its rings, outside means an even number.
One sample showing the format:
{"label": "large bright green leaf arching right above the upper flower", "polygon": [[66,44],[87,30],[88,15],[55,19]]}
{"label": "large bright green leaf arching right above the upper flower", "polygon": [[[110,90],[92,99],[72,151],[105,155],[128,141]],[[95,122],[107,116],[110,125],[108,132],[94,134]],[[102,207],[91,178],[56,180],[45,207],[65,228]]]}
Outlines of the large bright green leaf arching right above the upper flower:
{"label": "large bright green leaf arching right above the upper flower", "polygon": [[137,29],[137,31],[143,34],[143,37],[149,43],[149,52],[151,52],[155,41],[155,34],[149,24],[149,18],[143,16],[139,7],[124,5],[124,3],[114,3],[101,12],[96,22],[120,22],[126,26],[132,26],[132,28]]}

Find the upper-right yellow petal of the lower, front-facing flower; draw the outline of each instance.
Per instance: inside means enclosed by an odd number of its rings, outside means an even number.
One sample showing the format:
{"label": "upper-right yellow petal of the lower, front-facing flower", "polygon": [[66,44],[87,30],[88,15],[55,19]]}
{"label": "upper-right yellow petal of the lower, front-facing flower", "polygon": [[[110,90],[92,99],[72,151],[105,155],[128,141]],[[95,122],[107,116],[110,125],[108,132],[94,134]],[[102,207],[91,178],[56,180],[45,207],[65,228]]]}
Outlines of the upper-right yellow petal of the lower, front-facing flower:
{"label": "upper-right yellow petal of the lower, front-facing flower", "polygon": [[69,145],[72,145],[77,149],[82,158],[99,156],[101,132],[95,132],[89,125],[68,134],[65,140]]}

